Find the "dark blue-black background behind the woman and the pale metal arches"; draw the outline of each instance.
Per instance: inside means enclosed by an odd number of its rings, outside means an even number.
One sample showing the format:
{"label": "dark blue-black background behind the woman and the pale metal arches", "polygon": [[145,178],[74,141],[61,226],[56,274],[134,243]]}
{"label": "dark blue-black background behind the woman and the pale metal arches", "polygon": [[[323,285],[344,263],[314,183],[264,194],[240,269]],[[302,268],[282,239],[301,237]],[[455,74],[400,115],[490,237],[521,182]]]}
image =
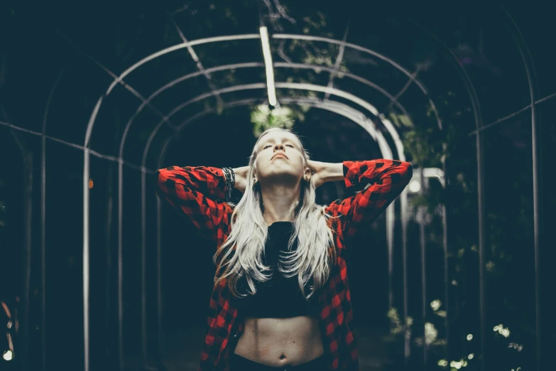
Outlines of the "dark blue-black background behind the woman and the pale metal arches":
{"label": "dark blue-black background behind the woman and the pale metal arches", "polygon": [[[29,2],[1,5],[0,49],[0,300],[17,313],[19,330],[13,361],[0,367],[13,370],[67,368],[83,365],[82,231],[83,150],[87,122],[114,75],[158,50],[212,36],[258,33],[261,24],[271,34],[308,34],[342,40],[386,55],[427,87],[423,95],[408,76],[381,58],[346,48],[339,70],[379,85],[403,105],[411,117],[377,90],[346,76],[334,87],[374,104],[395,124],[415,169],[445,167],[447,188],[430,181],[425,192],[410,195],[408,223],[408,314],[413,318],[411,354],[403,355],[400,333],[388,312],[388,252],[384,215],[360,237],[351,257],[349,279],[358,326],[361,370],[419,370],[423,366],[423,326],[438,330],[427,347],[428,369],[467,360],[479,370],[547,370],[555,345],[550,301],[555,276],[550,242],[554,183],[551,159],[556,144],[556,75],[552,68],[555,26],[549,6],[541,4],[357,4],[354,1],[171,1],[131,3],[95,1],[88,4]],[[276,16],[278,14],[278,16]],[[515,26],[513,26],[515,23]],[[347,28],[349,26],[349,28]],[[179,29],[179,31],[178,31]],[[514,38],[515,36],[515,38]],[[523,38],[523,42],[516,42]],[[280,45],[271,39],[275,63],[304,63],[334,68],[339,46],[322,42]],[[526,49],[523,49],[523,48]],[[543,190],[542,235],[535,269],[533,244],[533,163],[530,80],[521,51],[530,53],[537,120],[542,129],[540,176]],[[194,47],[206,68],[231,63],[263,63],[258,39],[207,43]],[[278,53],[282,49],[283,53]],[[285,58],[284,58],[285,55]],[[459,68],[460,65],[462,68]],[[187,49],[157,58],[124,78],[145,98],[182,75],[198,71]],[[275,68],[276,81],[326,86],[329,72]],[[467,75],[467,76],[466,76]],[[124,147],[123,272],[124,368],[145,365],[192,370],[198,364],[202,326],[209,303],[214,246],[197,236],[195,228],[167,205],[162,205],[163,339],[157,330],[156,196],[152,174],[146,188],[146,328],[147,352],[141,352],[141,166],[143,149],[153,128],[168,112],[212,89],[265,82],[264,68],[236,68],[192,77],[153,98],[137,111],[141,100],[122,84],[102,100],[89,148],[90,157],[90,347],[91,370],[119,365],[117,330],[117,244],[119,146],[126,123],[134,117]],[[468,77],[468,79],[467,79]],[[471,85],[471,86],[470,86]],[[476,104],[469,91],[476,94]],[[149,171],[162,166],[244,166],[256,141],[251,113],[264,103],[264,89],[229,92],[192,103],[170,117],[179,125],[200,112],[179,135],[160,127],[148,152]],[[278,90],[284,97],[325,100],[323,93]],[[254,99],[246,106],[222,109],[220,103]],[[353,103],[330,97],[350,107]],[[434,102],[442,129],[430,105]],[[293,112],[293,129],[312,158],[341,162],[380,158],[376,141],[358,124],[322,109]],[[357,107],[361,109],[360,107]],[[474,113],[484,125],[484,271],[486,307],[479,301],[479,236],[476,129]],[[137,113],[138,112],[138,113]],[[302,117],[300,116],[302,114]],[[367,114],[369,114],[367,112]],[[369,115],[371,116],[371,115]],[[376,117],[371,117],[376,121]],[[386,131],[378,122],[378,129]],[[45,152],[41,133],[45,132]],[[165,139],[174,137],[168,152],[159,155]],[[393,142],[387,139],[391,147]],[[108,157],[106,157],[108,156]],[[45,158],[45,182],[41,162]],[[442,159],[445,159],[443,161]],[[45,185],[45,216],[41,187]],[[340,188],[342,189],[343,186]],[[337,188],[320,188],[318,202],[341,197]],[[235,195],[239,197],[239,194]],[[442,219],[447,208],[448,256],[442,250]],[[393,307],[403,312],[403,265],[400,207],[396,203]],[[426,210],[426,211],[425,211]],[[421,214],[422,213],[422,214]],[[420,216],[425,219],[426,313],[422,316],[423,264],[420,255]],[[42,227],[44,220],[44,228]],[[41,256],[41,233],[45,254]],[[45,264],[45,276],[41,266]],[[540,306],[535,304],[535,274]],[[445,301],[445,280],[449,299]],[[43,284],[45,289],[43,290]],[[41,306],[45,296],[45,308]],[[442,301],[444,318],[429,303]],[[540,357],[535,313],[541,313]],[[45,322],[43,323],[43,314]],[[486,328],[480,336],[483,318]],[[4,321],[4,320],[2,320]],[[4,322],[3,322],[4,323]],[[511,335],[493,330],[503,324]],[[1,325],[4,326],[4,325]],[[467,340],[472,334],[473,340]],[[419,338],[421,340],[419,340]],[[484,363],[480,341],[484,340]],[[4,340],[1,340],[4,341]],[[7,344],[0,343],[4,352]],[[521,345],[520,350],[513,345]],[[511,346],[510,346],[511,345]],[[7,349],[7,348],[6,348]],[[44,353],[43,353],[44,352]],[[469,359],[469,354],[475,357]],[[43,354],[45,354],[43,362]],[[466,358],[467,357],[467,358]],[[548,368],[547,368],[548,367]]]}

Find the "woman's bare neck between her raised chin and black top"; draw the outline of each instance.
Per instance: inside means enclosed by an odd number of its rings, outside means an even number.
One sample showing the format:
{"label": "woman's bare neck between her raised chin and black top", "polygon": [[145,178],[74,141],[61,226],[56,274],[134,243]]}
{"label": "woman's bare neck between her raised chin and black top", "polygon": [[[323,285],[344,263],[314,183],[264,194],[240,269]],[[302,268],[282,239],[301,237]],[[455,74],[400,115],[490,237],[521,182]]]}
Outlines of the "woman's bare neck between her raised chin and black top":
{"label": "woman's bare neck between her raised chin and black top", "polygon": [[300,198],[300,185],[272,184],[261,188],[266,225],[273,222],[293,222],[296,203]]}

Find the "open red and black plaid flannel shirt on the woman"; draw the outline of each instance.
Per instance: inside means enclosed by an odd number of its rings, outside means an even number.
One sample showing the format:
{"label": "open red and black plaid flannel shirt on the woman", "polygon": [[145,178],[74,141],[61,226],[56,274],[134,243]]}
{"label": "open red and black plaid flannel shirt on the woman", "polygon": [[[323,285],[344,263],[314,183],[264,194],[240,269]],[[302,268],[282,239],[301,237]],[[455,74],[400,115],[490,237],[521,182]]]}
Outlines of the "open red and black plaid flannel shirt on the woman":
{"label": "open red and black plaid flannel shirt on the woman", "polygon": [[[413,171],[410,163],[384,159],[344,161],[343,170],[347,190],[360,192],[335,200],[325,209],[327,214],[338,216],[329,219],[329,226],[336,232],[337,264],[320,291],[320,328],[329,370],[359,370],[345,260],[351,249],[346,244],[347,237],[369,227],[409,183]],[[227,189],[222,169],[171,166],[160,169],[157,176],[158,193],[185,213],[201,235],[220,246],[229,235],[233,212],[231,205],[223,201]],[[229,371],[229,354],[244,330],[230,299],[225,283],[212,291],[199,371]]]}

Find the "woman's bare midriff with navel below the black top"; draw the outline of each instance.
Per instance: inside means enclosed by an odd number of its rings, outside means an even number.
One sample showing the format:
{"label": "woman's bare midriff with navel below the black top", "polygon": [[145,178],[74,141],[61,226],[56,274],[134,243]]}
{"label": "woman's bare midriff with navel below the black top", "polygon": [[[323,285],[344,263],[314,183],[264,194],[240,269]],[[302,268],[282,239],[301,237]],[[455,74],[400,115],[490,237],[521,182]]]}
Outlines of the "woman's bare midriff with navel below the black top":
{"label": "woman's bare midriff with navel below the black top", "polygon": [[236,355],[273,367],[301,365],[324,354],[319,320],[292,318],[245,318]]}

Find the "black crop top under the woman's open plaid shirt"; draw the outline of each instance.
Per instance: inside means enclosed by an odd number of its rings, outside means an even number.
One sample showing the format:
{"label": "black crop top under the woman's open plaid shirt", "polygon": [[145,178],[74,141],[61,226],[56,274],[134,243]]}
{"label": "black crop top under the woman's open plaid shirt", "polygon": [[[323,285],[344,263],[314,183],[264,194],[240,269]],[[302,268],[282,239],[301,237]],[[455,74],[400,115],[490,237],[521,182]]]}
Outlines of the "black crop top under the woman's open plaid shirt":
{"label": "black crop top under the woman's open plaid shirt", "polygon": [[[256,294],[249,294],[249,285],[245,277],[237,282],[237,289],[245,297],[233,297],[238,315],[253,318],[290,318],[296,316],[318,316],[320,311],[317,293],[312,294],[309,301],[302,294],[298,276],[285,278],[276,268],[280,252],[288,251],[288,241],[293,232],[293,222],[273,222],[268,227],[268,236],[264,247],[263,264],[273,269],[272,278],[266,282],[254,280]],[[292,251],[298,248],[293,242]],[[288,257],[288,254],[280,254]],[[310,294],[312,279],[305,285],[306,294]]]}

